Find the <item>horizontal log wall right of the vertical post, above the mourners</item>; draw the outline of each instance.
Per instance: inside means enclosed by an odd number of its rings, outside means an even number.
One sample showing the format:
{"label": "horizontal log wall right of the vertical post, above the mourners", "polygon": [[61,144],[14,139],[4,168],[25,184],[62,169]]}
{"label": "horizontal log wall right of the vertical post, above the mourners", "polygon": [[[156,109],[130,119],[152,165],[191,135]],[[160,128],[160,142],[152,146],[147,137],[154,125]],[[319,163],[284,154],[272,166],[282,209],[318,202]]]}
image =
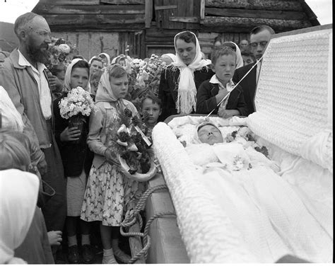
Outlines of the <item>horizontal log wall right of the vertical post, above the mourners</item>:
{"label": "horizontal log wall right of the vertical post, above the mourners", "polygon": [[225,32],[247,32],[257,25],[269,25],[277,33],[307,28],[318,23],[305,1],[300,0],[206,0],[206,28]]}

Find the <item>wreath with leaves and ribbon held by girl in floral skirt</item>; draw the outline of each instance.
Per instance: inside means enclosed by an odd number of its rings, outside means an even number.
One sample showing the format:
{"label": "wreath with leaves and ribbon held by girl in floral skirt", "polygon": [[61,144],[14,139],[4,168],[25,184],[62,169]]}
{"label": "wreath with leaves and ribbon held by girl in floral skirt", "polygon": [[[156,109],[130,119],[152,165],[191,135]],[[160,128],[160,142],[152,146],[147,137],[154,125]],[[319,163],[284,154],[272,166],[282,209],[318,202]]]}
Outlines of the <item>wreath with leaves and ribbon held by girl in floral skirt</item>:
{"label": "wreath with leaves and ribbon held by girl in floral skirt", "polygon": [[157,172],[153,163],[153,152],[150,149],[151,137],[148,128],[139,117],[134,116],[128,108],[119,114],[119,128],[110,127],[107,145],[119,158],[121,166],[128,178],[146,181]]}

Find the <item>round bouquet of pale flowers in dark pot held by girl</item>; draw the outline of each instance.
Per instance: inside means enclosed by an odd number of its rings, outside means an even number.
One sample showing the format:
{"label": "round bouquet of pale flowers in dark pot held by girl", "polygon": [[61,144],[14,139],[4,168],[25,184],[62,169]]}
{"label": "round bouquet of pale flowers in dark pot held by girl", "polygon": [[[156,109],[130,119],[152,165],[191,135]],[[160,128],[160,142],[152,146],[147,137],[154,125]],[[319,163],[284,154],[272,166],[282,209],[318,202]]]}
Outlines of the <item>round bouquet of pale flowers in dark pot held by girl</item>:
{"label": "round bouquet of pale flowers in dark pot held by girl", "polygon": [[[59,112],[61,117],[69,119],[69,127],[76,127],[83,133],[84,116],[90,116],[96,107],[90,93],[81,87],[73,88],[65,98],[59,101]],[[74,143],[79,143],[81,138]]]}

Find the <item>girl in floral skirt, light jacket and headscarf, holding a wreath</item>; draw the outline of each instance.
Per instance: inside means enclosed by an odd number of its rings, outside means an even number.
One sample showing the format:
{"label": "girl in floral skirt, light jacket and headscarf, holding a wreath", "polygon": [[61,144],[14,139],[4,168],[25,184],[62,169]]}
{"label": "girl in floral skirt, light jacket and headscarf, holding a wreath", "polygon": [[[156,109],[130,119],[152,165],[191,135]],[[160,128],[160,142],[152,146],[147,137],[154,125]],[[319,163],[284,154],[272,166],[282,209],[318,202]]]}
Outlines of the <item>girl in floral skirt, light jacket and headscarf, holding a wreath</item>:
{"label": "girl in floral skirt, light jacket and headscarf, holding a wreath", "polygon": [[127,207],[134,207],[145,189],[144,183],[127,178],[114,163],[117,157],[113,145],[119,144],[113,139],[121,126],[119,115],[125,108],[137,115],[135,106],[124,100],[127,91],[128,75],[124,68],[119,64],[107,67],[95,96],[98,111],[90,119],[88,146],[95,155],[81,209],[81,219],[100,221],[102,263],[117,263],[115,258],[122,262],[130,260],[129,255],[119,249],[119,226]]}

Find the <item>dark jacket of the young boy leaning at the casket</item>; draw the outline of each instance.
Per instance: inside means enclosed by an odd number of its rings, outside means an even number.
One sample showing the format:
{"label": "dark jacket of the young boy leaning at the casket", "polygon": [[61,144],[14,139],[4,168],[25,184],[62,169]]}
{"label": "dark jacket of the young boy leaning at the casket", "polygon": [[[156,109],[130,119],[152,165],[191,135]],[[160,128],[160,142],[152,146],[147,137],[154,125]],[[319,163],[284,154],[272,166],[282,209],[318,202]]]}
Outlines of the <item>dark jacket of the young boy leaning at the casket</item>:
{"label": "dark jacket of the young boy leaning at the casket", "polygon": [[[216,94],[218,94],[218,84],[210,83],[210,80],[201,83],[198,92],[196,93],[196,113],[197,114],[208,114],[211,110],[215,109],[213,115],[218,114],[218,107],[216,106]],[[241,116],[248,116],[249,111],[243,91],[240,85],[230,93],[226,110],[238,110]]]}

